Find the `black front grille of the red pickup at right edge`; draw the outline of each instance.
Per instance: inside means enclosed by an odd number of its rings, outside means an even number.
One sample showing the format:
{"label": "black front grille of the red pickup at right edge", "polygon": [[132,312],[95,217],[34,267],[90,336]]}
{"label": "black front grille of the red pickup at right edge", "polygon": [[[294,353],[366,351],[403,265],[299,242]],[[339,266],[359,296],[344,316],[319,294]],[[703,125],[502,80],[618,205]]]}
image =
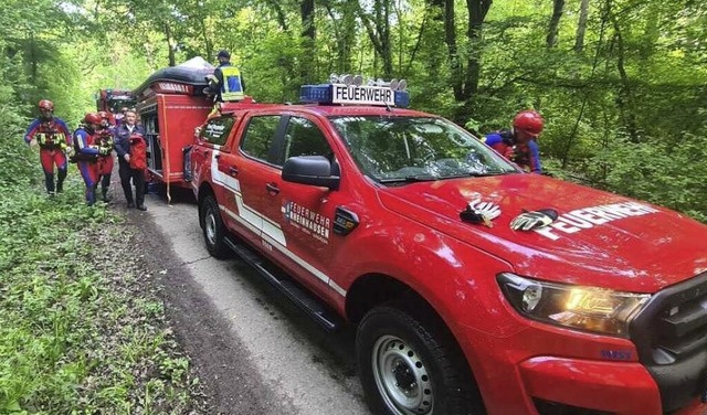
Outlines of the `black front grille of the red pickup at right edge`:
{"label": "black front grille of the red pickup at right edge", "polygon": [[699,396],[707,390],[707,273],[653,296],[630,332],[664,412]]}

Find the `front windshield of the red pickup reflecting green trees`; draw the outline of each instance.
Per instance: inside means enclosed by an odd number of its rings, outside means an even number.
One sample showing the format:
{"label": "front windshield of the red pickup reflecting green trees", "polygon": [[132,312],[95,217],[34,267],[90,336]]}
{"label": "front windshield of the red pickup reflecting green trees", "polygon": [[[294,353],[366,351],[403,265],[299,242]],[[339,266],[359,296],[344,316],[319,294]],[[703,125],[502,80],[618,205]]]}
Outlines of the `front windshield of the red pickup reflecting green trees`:
{"label": "front windshield of the red pickup reflecting green trees", "polygon": [[518,170],[456,125],[432,117],[329,118],[359,168],[381,183],[410,183]]}

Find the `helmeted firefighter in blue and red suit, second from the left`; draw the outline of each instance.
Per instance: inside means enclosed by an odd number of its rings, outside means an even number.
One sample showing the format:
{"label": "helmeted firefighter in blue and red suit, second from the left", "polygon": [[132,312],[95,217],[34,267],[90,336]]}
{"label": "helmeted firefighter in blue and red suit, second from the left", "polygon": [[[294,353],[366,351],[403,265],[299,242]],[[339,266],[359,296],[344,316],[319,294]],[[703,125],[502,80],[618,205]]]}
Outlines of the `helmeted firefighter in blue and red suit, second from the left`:
{"label": "helmeted firefighter in blue and red suit, second from the left", "polygon": [[98,114],[89,113],[84,117],[84,124],[74,131],[73,160],[86,184],[86,204],[92,206],[96,202],[96,188],[101,179],[98,158],[110,153],[110,147],[102,147],[98,132],[102,129],[102,118]]}

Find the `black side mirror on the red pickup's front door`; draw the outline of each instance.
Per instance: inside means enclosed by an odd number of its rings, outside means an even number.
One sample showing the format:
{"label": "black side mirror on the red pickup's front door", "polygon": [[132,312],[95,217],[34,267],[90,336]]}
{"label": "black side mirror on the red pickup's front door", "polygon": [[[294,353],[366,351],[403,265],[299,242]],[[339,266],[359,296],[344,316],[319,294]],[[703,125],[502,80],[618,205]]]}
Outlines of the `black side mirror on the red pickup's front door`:
{"label": "black side mirror on the red pickup's front door", "polygon": [[291,157],[283,166],[283,180],[338,190],[341,179],[338,166],[334,168],[324,156]]}

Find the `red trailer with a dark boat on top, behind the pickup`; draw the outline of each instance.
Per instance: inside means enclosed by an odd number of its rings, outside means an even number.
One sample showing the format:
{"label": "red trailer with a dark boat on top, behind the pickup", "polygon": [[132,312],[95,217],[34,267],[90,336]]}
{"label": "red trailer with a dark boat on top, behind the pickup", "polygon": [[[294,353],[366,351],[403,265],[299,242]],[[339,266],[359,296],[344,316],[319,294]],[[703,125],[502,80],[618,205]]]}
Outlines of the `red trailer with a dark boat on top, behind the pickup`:
{"label": "red trailer with a dark boat on top, behind the pickup", "polygon": [[155,72],[134,91],[138,119],[148,145],[148,171],[152,181],[186,188],[184,152],[194,142],[194,129],[213,103],[203,89],[214,67],[201,57]]}

